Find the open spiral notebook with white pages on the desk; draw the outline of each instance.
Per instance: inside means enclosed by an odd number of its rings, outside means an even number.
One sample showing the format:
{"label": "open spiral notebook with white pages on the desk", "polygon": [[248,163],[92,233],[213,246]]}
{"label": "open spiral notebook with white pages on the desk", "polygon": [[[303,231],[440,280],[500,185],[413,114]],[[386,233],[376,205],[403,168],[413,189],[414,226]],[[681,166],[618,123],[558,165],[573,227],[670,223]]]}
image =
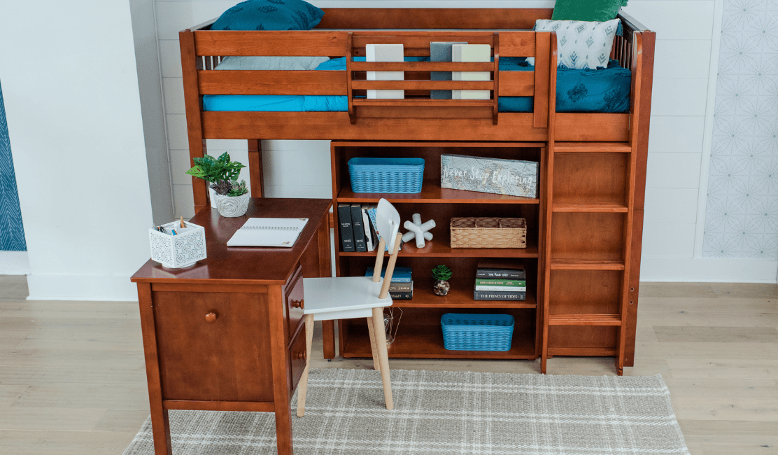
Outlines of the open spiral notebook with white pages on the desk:
{"label": "open spiral notebook with white pages on the desk", "polygon": [[227,240],[227,247],[291,248],[307,222],[307,218],[250,218]]}

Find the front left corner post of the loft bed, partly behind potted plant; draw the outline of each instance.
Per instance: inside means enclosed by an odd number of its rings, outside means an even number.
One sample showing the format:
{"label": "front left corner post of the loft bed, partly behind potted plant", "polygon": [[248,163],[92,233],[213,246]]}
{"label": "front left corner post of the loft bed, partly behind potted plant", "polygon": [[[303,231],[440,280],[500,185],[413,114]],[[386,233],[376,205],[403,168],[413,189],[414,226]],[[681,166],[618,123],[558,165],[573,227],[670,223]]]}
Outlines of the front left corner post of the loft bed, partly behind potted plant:
{"label": "front left corner post of the loft bed, partly behind potted plant", "polygon": [[[187,114],[187,138],[189,139],[189,165],[195,166],[195,158],[202,158],[206,152],[202,138],[202,117],[200,112],[200,88],[197,77],[197,54],[195,54],[195,33],[184,30],[178,33],[181,47],[181,72],[184,77],[184,104]],[[192,193],[195,196],[195,213],[208,205],[208,189],[205,180],[192,177]]]}

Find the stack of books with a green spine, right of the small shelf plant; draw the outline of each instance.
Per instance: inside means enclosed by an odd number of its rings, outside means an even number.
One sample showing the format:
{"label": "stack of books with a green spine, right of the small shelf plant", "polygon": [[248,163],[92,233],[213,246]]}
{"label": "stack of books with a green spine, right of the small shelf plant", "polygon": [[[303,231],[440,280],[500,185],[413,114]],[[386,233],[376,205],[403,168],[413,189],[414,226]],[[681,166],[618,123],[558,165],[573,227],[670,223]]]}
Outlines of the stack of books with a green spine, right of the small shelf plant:
{"label": "stack of books with a green spine, right of the small shelf plant", "polygon": [[478,261],[474,300],[526,300],[527,275],[514,261]]}

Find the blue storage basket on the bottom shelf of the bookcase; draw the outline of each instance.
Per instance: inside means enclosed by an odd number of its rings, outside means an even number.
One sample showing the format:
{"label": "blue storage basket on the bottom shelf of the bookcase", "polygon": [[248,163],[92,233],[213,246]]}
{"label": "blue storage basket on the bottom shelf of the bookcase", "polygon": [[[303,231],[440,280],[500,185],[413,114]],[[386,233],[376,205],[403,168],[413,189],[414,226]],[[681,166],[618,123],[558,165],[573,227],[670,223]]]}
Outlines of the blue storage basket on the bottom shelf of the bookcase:
{"label": "blue storage basket on the bottom shelf of the bookcase", "polygon": [[446,313],[440,318],[443,347],[452,351],[510,351],[510,314]]}

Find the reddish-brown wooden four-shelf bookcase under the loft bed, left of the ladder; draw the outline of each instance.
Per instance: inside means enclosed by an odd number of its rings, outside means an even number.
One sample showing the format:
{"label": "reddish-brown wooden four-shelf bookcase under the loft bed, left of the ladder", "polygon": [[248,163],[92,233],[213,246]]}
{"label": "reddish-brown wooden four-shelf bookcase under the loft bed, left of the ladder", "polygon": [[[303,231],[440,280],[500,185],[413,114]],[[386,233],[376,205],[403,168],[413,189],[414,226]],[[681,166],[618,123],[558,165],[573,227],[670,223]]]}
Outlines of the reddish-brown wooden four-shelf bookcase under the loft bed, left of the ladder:
{"label": "reddish-brown wooden four-shelf bookcase under the loft bed, left of the ladder", "polygon": [[[450,190],[440,187],[440,155],[455,153],[489,158],[522,159],[540,163],[538,198],[521,198],[502,194]],[[419,213],[422,220],[434,219],[430,231],[433,240],[424,248],[405,243],[398,256],[398,266],[410,267],[413,273],[413,299],[395,300],[394,307],[403,310],[401,323],[389,356],[394,358],[431,359],[537,359],[543,327],[538,302],[538,277],[542,275],[541,255],[545,233],[546,147],[532,142],[331,142],[333,203],[377,203],[386,198],[400,212],[401,219]],[[423,158],[424,184],[419,194],[353,193],[348,161],[354,157]],[[527,219],[526,248],[451,248],[450,219],[453,217],[489,216]],[[401,229],[405,232],[405,229]],[[339,238],[335,223],[335,239]],[[335,248],[335,271],[338,276],[364,275],[373,265],[375,252],[343,252]],[[511,257],[524,263],[527,270],[527,299],[524,301],[475,301],[475,269],[481,257]],[[446,264],[454,275],[449,280],[447,296],[433,293],[430,271]],[[513,343],[507,352],[448,351],[443,348],[440,317],[444,313],[510,314],[515,320]],[[370,338],[361,320],[338,322],[340,355],[370,357]]]}

